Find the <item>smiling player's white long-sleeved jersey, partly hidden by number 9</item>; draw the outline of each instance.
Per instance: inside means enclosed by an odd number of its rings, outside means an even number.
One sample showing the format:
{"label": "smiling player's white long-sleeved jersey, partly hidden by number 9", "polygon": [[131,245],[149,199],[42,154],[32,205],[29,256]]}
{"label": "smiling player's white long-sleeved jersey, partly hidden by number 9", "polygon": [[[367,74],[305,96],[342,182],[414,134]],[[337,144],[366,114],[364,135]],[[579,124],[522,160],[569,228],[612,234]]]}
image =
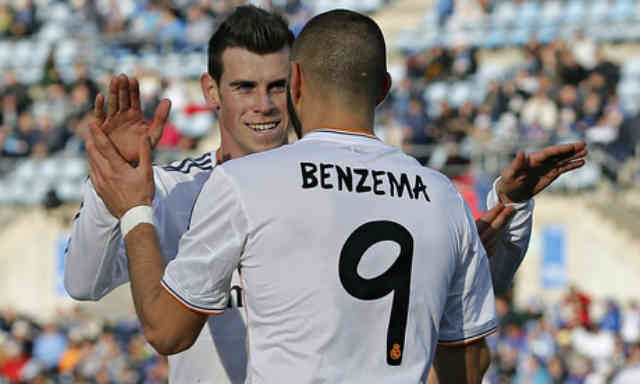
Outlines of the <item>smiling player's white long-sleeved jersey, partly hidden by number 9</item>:
{"label": "smiling player's white long-sleeved jersey, partly hidden by number 9", "polygon": [[[185,159],[170,167],[154,166],[156,194],[153,201],[154,225],[165,260],[175,258],[178,241],[187,230],[191,210],[202,185],[216,166],[213,154]],[[498,198],[494,190],[487,198],[493,207]],[[509,222],[501,246],[491,259],[500,260],[503,282],[505,270],[517,269],[526,252],[531,232],[533,201],[518,207]],[[496,267],[496,268],[497,268]],[[65,288],[78,300],[99,300],[129,281],[127,257],[118,220],[114,218],[93,186],[87,181],[83,206],[76,216],[72,240],[67,249]],[[221,316],[209,319],[196,343],[188,350],[169,357],[173,383],[242,383],[247,366],[245,312],[237,273],[232,277],[231,300]]]}

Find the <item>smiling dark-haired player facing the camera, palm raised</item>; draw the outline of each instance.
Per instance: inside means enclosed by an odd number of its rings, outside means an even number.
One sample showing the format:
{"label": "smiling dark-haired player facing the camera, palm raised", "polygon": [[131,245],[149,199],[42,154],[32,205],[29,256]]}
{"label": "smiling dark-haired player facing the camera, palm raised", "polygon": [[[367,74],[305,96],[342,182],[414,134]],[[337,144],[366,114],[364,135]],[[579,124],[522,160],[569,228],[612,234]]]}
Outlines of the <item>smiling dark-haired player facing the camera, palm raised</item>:
{"label": "smiling dark-haired player facing the camera, palm raised", "polygon": [[[204,96],[216,110],[222,145],[217,151],[167,166],[154,166],[154,223],[163,257],[173,259],[187,230],[193,204],[211,170],[223,159],[241,157],[287,140],[285,83],[294,36],[277,15],[253,6],[237,8],[209,42],[208,73],[201,77]],[[118,151],[137,161],[137,138],[150,133],[157,141],[170,104],[163,101],[146,125],[140,111],[138,83],[120,76],[110,84],[107,113],[96,99],[101,126]],[[99,300],[129,281],[118,219],[87,183],[65,260],[65,288],[79,300]],[[233,299],[225,314],[208,321],[189,350],[169,357],[175,383],[243,382],[246,375],[246,329],[240,280],[234,274]]]}

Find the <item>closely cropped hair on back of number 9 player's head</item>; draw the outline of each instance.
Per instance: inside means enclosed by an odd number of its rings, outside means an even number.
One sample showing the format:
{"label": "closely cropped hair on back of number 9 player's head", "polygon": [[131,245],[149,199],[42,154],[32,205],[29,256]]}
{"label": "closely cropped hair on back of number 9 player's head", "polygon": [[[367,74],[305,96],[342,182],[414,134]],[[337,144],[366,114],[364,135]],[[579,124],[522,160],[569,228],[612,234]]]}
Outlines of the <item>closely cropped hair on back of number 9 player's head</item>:
{"label": "closely cropped hair on back of number 9 player's head", "polygon": [[293,43],[292,60],[316,82],[376,97],[387,73],[382,31],[370,17],[337,9],[312,18]]}

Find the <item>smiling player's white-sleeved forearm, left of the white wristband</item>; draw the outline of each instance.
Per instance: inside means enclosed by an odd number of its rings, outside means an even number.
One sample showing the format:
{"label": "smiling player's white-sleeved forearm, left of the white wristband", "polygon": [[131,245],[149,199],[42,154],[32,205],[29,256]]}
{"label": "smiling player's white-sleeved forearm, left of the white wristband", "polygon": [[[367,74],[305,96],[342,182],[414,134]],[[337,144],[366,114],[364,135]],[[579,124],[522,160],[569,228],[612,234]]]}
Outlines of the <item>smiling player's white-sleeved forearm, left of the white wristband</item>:
{"label": "smiling player's white-sleeved forearm, left of the white wristband", "polygon": [[67,245],[65,289],[76,300],[99,300],[128,279],[118,220],[87,182]]}

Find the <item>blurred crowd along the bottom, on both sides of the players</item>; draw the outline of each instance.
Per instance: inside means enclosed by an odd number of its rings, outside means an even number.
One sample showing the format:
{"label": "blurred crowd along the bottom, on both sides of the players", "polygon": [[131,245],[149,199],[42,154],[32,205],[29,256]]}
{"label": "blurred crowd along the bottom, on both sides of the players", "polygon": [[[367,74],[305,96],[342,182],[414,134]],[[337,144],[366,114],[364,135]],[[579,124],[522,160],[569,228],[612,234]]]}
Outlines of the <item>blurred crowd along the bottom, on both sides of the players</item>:
{"label": "blurred crowd along the bottom, on both sides of the players", "polygon": [[[551,304],[497,298],[486,384],[640,382],[640,305],[596,300],[575,287]],[[135,318],[105,323],[59,310],[35,321],[0,311],[0,383],[166,383],[167,361]]]}

